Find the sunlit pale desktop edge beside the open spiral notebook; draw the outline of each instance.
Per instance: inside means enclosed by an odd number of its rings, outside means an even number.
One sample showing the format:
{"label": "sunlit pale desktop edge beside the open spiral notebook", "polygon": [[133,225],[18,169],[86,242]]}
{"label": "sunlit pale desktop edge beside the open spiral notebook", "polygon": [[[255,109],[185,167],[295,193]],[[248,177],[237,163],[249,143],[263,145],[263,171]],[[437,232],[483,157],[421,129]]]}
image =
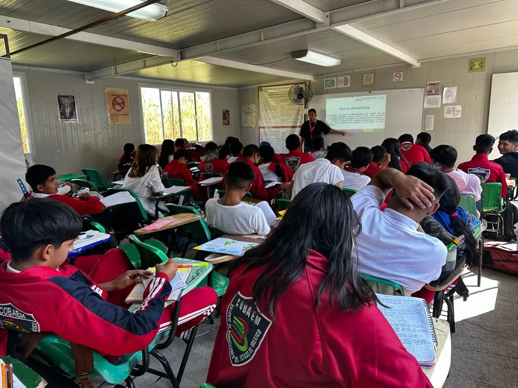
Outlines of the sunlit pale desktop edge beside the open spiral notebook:
{"label": "sunlit pale desktop edge beside the open spiral notebook", "polygon": [[434,318],[434,327],[437,334],[437,348],[435,350],[436,364],[431,368],[421,368],[434,388],[442,388],[450,372],[452,342],[450,325],[447,321]]}

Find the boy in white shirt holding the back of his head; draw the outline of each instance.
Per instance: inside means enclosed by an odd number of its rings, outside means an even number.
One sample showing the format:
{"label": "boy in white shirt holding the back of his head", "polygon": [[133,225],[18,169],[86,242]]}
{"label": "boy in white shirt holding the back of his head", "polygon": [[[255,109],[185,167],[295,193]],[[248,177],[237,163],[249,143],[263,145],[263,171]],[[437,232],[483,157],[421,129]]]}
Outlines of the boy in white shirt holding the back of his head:
{"label": "boy in white shirt holding the back of his head", "polygon": [[[425,162],[413,165],[407,175],[386,168],[351,197],[362,220],[354,250],[359,273],[395,281],[406,295],[440,276],[447,249],[440,240],[423,233],[419,222],[435,213],[448,180]],[[393,188],[395,195],[381,211],[380,205]]]}

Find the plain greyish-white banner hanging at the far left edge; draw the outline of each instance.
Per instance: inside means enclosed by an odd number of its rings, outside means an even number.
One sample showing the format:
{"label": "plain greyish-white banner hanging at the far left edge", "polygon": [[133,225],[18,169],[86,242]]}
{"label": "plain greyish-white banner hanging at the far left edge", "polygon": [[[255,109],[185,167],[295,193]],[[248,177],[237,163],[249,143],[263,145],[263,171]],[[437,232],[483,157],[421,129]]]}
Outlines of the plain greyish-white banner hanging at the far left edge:
{"label": "plain greyish-white banner hanging at the far left edge", "polygon": [[[25,177],[20,120],[16,106],[15,84],[12,82],[10,59],[0,58],[0,213],[11,203],[22,198],[16,180]],[[30,186],[25,184],[27,189]]]}

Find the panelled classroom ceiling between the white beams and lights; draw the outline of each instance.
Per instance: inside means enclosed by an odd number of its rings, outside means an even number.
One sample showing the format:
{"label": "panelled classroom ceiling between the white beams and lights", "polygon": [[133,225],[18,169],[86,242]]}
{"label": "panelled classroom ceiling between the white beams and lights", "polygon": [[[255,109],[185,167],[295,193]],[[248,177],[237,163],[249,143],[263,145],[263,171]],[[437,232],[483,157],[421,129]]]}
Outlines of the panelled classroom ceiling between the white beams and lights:
{"label": "panelled classroom ceiling between the white beams and lights", "polygon": [[[518,46],[518,0],[305,1],[309,8],[318,8],[309,18],[278,4],[297,3],[286,0],[168,0],[165,3],[169,12],[159,21],[123,17],[88,30],[100,38],[124,39],[129,42],[126,48],[62,39],[17,54],[12,60],[16,64],[82,72],[113,67],[115,74],[120,73],[118,65],[156,59],[153,49],[158,46],[179,50],[185,60],[172,67],[170,62],[175,58],[165,57],[162,66],[142,69],[139,65],[130,67],[132,70],[125,74],[240,87],[296,77],[192,59],[212,56],[308,77],[403,62],[394,52],[387,54],[330,28],[343,23],[414,59]],[[403,8],[399,8],[401,4]],[[327,24],[311,20],[324,15],[319,10],[326,12]],[[10,50],[14,51],[49,36],[47,27],[24,21],[77,28],[109,14],[67,0],[0,0],[0,33],[8,35]],[[9,18],[21,19],[21,24],[10,24]],[[141,46],[132,49],[133,42],[153,46],[149,50]],[[289,58],[292,51],[304,49],[340,58],[341,64],[322,67]]]}

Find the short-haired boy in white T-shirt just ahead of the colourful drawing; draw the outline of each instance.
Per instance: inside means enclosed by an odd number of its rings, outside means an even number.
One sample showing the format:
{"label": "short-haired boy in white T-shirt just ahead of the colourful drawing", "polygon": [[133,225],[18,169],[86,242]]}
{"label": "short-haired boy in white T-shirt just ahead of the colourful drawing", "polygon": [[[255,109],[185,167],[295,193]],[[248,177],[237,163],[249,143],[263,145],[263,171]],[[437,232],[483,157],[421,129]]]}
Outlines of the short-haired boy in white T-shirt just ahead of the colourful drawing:
{"label": "short-haired boy in white T-shirt just ahead of the colourful drawing", "polygon": [[254,179],[248,163],[232,163],[225,175],[225,195],[221,199],[209,199],[205,204],[207,223],[228,234],[268,234],[270,226],[261,208],[241,202]]}

